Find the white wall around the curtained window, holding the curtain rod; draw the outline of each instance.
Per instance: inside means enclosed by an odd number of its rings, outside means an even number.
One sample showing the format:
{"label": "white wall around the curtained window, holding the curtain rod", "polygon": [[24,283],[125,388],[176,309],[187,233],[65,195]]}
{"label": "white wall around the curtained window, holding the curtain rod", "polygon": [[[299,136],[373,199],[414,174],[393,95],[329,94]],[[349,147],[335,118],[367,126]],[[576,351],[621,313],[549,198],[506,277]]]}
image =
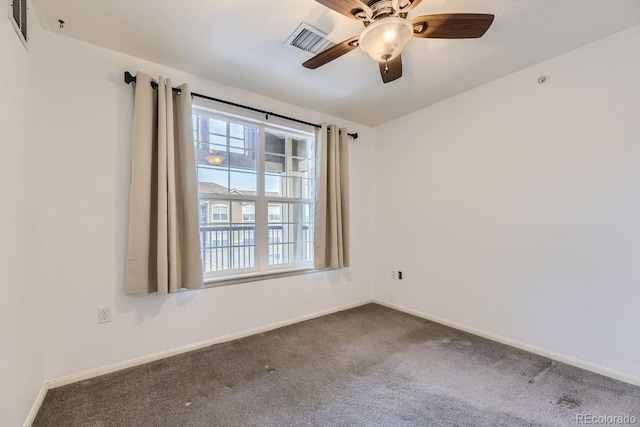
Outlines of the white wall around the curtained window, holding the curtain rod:
{"label": "white wall around the curtained window, holding the curtain rod", "polygon": [[[363,126],[222,86],[164,66],[46,33],[42,164],[44,372],[60,379],[371,298],[372,131]],[[315,273],[178,295],[124,294],[130,167],[131,86],[125,70],[188,82],[194,92],[358,131],[350,141],[353,281]],[[96,308],[113,321],[97,324]]]}

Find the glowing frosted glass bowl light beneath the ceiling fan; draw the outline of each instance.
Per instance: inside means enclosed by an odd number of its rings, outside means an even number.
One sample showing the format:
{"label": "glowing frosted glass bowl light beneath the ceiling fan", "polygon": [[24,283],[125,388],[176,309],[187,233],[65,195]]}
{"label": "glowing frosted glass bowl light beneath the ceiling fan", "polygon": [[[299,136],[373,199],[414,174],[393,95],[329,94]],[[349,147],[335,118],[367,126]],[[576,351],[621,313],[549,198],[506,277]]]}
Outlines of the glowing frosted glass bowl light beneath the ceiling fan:
{"label": "glowing frosted glass bowl light beneath the ceiling fan", "polygon": [[406,19],[383,18],[373,22],[360,35],[360,47],[378,62],[400,55],[413,36],[413,26]]}

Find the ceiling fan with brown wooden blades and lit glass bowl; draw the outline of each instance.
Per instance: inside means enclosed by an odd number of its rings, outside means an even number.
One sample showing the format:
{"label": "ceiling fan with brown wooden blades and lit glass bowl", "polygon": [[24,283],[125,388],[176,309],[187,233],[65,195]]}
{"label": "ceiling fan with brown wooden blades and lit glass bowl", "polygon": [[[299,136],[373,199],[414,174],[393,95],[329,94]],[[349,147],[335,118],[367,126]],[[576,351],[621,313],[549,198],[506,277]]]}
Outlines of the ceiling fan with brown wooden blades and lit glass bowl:
{"label": "ceiling fan with brown wooden blades and lit glass bowl", "polygon": [[349,18],[362,21],[365,29],[317,54],[302,64],[316,69],[360,46],[378,62],[384,83],[402,77],[402,49],[415,38],[473,39],[482,37],[494,15],[449,13],[422,15],[407,20],[407,15],[422,0],[316,0]]}

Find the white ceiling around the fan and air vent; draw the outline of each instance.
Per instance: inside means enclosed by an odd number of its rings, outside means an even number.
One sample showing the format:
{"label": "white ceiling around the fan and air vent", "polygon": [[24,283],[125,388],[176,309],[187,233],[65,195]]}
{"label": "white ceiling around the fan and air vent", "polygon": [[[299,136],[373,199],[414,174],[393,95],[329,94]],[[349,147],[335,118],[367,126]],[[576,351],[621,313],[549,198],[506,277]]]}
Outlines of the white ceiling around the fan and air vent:
{"label": "white ceiling around the fan and air vent", "polygon": [[638,0],[423,0],[410,19],[461,12],[496,18],[480,39],[411,40],[402,78],[383,84],[360,49],[308,70],[301,64],[312,55],[284,45],[303,21],[335,42],[362,31],[360,22],[315,0],[32,3],[49,31],[367,126],[640,24]]}

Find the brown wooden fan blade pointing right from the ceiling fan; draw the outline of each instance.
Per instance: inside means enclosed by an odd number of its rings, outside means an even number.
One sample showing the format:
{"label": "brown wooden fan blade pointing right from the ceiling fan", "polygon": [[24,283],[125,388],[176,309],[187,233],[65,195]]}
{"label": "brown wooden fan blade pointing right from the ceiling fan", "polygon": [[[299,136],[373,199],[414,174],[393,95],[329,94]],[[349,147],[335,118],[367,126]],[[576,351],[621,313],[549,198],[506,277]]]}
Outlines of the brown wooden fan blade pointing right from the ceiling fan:
{"label": "brown wooden fan blade pointing right from the ceiling fan", "polygon": [[448,13],[415,18],[413,37],[431,39],[476,39],[482,37],[493,22],[493,15],[483,13]]}

